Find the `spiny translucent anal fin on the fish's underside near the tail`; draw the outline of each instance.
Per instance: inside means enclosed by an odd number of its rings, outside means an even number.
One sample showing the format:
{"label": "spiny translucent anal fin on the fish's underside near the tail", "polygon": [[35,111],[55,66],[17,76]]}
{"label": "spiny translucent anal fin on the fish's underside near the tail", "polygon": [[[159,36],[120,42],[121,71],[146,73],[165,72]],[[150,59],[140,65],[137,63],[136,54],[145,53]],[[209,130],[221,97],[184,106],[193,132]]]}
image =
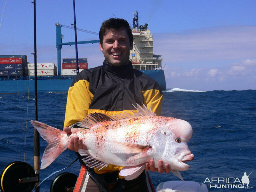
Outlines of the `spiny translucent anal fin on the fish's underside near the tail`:
{"label": "spiny translucent anal fin on the fish's underside near the tail", "polygon": [[95,159],[93,156],[91,156],[88,150],[79,149],[78,153],[81,156],[86,156],[82,160],[83,160],[84,164],[86,166],[90,167],[90,168],[99,168],[99,167],[103,168],[103,167],[107,167],[108,166],[108,164],[106,164],[104,162],[101,162],[98,159]]}

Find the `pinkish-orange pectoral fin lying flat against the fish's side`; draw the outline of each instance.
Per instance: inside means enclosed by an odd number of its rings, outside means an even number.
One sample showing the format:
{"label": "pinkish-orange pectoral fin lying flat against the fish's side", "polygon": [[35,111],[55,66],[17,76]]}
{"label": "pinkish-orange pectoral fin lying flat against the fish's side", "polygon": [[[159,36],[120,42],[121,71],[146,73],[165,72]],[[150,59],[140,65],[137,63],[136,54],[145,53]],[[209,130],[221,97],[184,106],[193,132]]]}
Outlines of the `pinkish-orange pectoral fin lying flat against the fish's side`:
{"label": "pinkish-orange pectoral fin lying flat against the fish's side", "polygon": [[142,153],[151,148],[150,145],[140,145],[122,141],[106,140],[105,142],[112,144],[117,150],[123,151],[125,153]]}

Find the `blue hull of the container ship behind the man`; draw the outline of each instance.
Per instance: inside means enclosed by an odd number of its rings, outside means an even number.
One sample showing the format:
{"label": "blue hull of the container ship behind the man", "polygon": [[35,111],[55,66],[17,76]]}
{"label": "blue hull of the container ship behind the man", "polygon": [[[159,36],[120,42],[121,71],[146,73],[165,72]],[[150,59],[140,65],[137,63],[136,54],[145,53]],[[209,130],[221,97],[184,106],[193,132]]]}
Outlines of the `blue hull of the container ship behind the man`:
{"label": "blue hull of the container ship behind the man", "polygon": [[[141,71],[150,76],[160,85],[162,90],[166,90],[166,83],[163,70]],[[38,77],[37,92],[68,92],[68,88],[74,77]],[[22,93],[35,92],[35,81],[30,77],[22,79],[0,80],[0,93]]]}

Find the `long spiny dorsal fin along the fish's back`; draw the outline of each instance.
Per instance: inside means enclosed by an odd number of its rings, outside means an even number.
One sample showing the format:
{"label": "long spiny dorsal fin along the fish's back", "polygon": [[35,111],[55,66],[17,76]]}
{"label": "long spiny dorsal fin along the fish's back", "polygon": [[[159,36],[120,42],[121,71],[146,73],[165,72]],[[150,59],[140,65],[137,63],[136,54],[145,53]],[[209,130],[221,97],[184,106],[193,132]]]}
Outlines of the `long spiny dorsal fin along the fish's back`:
{"label": "long spiny dorsal fin along the fish's back", "polygon": [[129,114],[127,112],[124,111],[124,113],[120,113],[119,115],[106,115],[106,114],[102,114],[102,113],[90,113],[88,114],[83,121],[81,122],[81,126],[89,128],[90,126],[100,123],[100,122],[104,122],[104,121],[118,121],[118,120],[123,120],[123,119],[129,119],[132,117],[138,117],[138,116],[149,116],[149,115],[153,115],[155,116],[154,112],[151,110],[148,110],[148,108],[144,105],[144,103],[142,103],[143,108],[140,107],[140,105],[138,103],[137,107],[135,107],[134,105],[132,105],[138,112],[133,112],[133,114]]}

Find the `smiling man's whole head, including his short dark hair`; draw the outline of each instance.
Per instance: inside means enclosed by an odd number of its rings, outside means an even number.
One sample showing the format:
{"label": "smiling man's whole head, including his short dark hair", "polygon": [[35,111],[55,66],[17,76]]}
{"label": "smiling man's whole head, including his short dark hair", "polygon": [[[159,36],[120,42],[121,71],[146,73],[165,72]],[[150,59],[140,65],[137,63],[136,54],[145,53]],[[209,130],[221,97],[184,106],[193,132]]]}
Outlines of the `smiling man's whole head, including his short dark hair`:
{"label": "smiling man's whole head, including his short dark hair", "polygon": [[100,28],[100,50],[107,63],[120,66],[129,63],[130,50],[133,47],[132,30],[123,19],[111,18]]}

